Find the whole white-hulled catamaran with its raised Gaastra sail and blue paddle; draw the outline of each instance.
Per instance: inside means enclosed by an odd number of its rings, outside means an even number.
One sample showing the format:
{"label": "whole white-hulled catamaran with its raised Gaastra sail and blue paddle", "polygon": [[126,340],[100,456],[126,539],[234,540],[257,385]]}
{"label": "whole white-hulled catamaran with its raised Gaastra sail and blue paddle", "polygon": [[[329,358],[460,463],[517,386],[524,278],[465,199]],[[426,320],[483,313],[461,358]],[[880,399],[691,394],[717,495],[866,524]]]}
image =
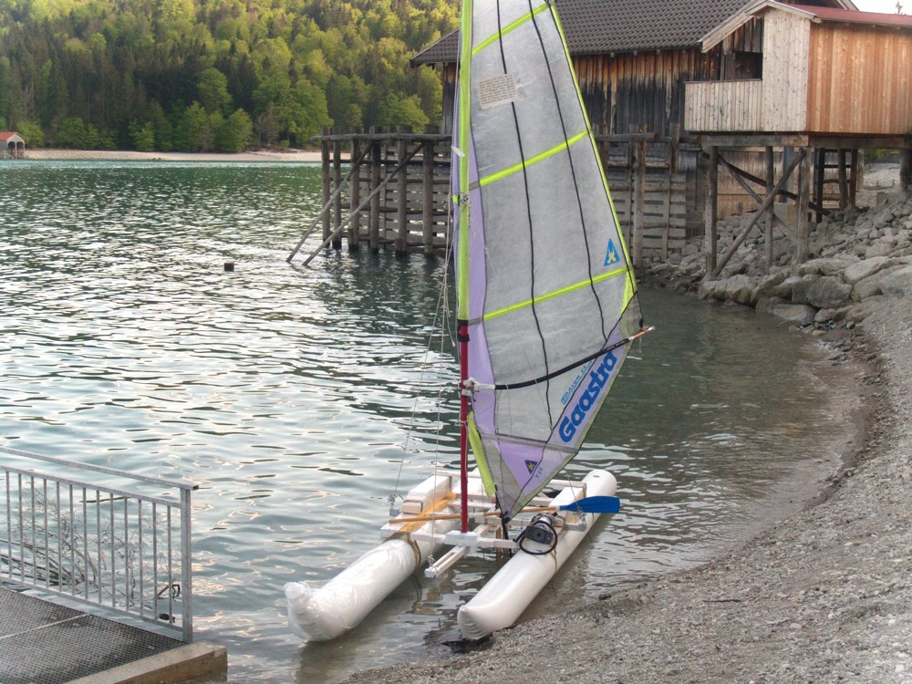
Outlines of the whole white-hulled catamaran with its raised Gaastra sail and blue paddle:
{"label": "whole white-hulled catamaran with its raised Gaastra sail and blue paddle", "polygon": [[513,625],[598,516],[619,508],[609,472],[558,479],[651,328],[554,2],[463,0],[460,36],[461,467],[412,489],[382,526],[386,541],[325,586],[285,586],[291,627],[306,639],[357,626],[441,544],[450,550],[429,577],[474,550],[513,554],[457,615],[464,637],[486,637]]}

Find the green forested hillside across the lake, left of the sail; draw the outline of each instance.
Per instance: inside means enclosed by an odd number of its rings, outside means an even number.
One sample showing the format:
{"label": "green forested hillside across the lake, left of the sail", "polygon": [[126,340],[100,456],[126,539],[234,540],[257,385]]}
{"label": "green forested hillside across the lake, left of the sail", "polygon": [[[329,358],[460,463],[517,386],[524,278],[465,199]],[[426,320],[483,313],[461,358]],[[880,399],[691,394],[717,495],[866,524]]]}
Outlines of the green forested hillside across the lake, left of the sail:
{"label": "green forested hillside across the lake, left of the sail", "polygon": [[325,126],[440,121],[409,57],[456,0],[3,0],[0,130],[29,147],[304,148]]}

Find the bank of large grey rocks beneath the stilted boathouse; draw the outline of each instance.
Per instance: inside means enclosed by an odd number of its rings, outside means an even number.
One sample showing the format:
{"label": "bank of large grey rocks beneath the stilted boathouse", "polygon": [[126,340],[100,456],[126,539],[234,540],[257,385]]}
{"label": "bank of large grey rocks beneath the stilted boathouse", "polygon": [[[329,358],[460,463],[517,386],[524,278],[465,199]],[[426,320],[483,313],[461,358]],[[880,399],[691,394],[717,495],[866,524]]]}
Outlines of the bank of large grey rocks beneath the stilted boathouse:
{"label": "bank of large grey rocks beneath the stilted boathouse", "polygon": [[[720,254],[750,219],[720,222]],[[701,299],[754,306],[802,328],[851,328],[878,298],[912,295],[912,198],[893,193],[876,207],[833,212],[812,230],[809,261],[794,265],[794,250],[778,231],[767,269],[765,238],[755,227],[720,276],[707,278],[703,238],[692,238],[678,264],[656,264],[648,278]]]}

